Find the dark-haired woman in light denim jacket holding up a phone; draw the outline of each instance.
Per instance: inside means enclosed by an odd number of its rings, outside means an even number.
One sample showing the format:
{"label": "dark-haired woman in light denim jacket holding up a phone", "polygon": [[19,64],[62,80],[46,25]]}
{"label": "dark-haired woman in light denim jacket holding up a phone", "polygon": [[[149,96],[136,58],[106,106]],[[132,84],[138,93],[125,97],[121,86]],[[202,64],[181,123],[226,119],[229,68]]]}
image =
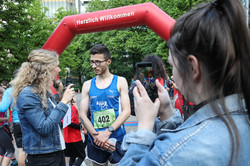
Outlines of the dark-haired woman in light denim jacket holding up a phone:
{"label": "dark-haired woman in light denim jacket holding up a phone", "polygon": [[137,81],[138,130],[125,136],[120,165],[250,165],[249,43],[238,0],[217,0],[177,20],[168,61],[196,109],[183,123],[159,82],[152,103]]}

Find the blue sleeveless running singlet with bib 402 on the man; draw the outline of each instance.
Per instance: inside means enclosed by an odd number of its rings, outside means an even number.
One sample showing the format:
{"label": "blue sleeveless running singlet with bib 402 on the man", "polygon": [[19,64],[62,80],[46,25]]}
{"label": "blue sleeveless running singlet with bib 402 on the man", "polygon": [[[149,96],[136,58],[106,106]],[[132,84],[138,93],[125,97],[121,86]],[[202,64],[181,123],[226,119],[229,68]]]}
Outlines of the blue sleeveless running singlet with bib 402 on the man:
{"label": "blue sleeveless running singlet with bib 402 on the man", "polygon": [[[96,77],[91,80],[89,89],[91,123],[96,131],[104,131],[114,123],[121,111],[120,92],[117,89],[118,76],[114,75],[111,84],[104,89],[97,88],[95,80]],[[111,134],[110,138],[121,141],[125,134],[122,125]]]}

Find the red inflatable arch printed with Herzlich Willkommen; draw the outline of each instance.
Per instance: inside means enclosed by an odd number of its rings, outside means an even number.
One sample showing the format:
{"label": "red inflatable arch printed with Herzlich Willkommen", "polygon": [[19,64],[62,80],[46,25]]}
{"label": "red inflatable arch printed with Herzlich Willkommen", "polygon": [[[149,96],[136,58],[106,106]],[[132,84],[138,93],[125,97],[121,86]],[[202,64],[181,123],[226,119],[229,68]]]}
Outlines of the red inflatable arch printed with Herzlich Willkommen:
{"label": "red inflatable arch printed with Herzlich Willkommen", "polygon": [[42,47],[59,55],[77,34],[147,25],[168,40],[175,20],[153,3],[119,7],[92,13],[66,16]]}

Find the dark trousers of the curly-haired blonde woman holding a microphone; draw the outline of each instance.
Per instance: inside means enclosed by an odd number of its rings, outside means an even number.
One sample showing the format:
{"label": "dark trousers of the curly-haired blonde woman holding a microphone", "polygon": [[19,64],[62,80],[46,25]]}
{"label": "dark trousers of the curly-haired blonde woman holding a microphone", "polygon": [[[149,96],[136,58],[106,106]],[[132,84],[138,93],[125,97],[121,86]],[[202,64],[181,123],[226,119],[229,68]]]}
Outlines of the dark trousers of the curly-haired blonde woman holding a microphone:
{"label": "dark trousers of the curly-haired blonde woman holding a microphone", "polygon": [[46,154],[28,154],[25,160],[26,166],[65,166],[63,151]]}

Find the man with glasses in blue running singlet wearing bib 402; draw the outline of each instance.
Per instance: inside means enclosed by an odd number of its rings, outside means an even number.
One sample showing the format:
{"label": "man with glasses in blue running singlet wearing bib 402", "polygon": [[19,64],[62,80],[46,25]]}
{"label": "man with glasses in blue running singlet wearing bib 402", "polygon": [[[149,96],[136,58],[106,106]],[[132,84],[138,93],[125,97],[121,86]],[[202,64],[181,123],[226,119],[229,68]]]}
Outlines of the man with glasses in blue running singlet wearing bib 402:
{"label": "man with glasses in blue running singlet wearing bib 402", "polygon": [[[80,111],[89,133],[87,154],[94,166],[108,165],[108,160],[116,164],[124,155],[120,148],[126,134],[123,123],[130,116],[128,84],[124,77],[110,73],[111,56],[105,45],[95,45],[90,55],[96,77],[83,84]],[[89,108],[91,120],[87,118]]]}

